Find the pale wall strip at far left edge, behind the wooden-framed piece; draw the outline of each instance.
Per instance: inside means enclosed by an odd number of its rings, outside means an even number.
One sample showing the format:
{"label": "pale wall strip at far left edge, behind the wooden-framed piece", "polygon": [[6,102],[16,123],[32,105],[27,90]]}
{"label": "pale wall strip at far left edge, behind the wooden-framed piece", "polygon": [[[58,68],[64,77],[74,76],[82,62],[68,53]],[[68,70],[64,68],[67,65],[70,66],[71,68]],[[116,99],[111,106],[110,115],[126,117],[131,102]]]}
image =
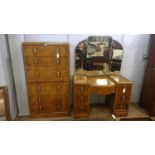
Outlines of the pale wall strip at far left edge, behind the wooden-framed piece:
{"label": "pale wall strip at far left edge, behind the wooden-framed piece", "polygon": [[8,86],[9,106],[11,118],[17,114],[17,100],[14,87],[11,59],[6,35],[0,35],[0,86]]}

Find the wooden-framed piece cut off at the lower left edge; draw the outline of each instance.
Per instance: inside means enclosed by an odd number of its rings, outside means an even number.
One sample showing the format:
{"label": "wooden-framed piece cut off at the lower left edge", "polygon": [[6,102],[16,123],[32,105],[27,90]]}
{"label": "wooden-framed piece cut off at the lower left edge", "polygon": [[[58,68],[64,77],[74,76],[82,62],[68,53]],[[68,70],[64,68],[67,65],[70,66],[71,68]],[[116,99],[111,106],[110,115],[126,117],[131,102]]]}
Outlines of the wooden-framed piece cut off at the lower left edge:
{"label": "wooden-framed piece cut off at the lower left edge", "polygon": [[0,87],[0,120],[11,120],[8,101],[8,88]]}

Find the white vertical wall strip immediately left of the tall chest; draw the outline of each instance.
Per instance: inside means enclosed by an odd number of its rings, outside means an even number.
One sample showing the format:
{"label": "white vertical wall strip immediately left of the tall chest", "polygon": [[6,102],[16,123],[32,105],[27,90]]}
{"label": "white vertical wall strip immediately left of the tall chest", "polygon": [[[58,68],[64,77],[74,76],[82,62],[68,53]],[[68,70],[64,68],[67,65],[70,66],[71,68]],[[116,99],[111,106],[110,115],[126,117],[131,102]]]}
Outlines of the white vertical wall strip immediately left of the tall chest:
{"label": "white vertical wall strip immediately left of the tall chest", "polygon": [[8,35],[13,74],[16,87],[19,115],[29,114],[25,72],[22,55],[22,42],[24,35]]}

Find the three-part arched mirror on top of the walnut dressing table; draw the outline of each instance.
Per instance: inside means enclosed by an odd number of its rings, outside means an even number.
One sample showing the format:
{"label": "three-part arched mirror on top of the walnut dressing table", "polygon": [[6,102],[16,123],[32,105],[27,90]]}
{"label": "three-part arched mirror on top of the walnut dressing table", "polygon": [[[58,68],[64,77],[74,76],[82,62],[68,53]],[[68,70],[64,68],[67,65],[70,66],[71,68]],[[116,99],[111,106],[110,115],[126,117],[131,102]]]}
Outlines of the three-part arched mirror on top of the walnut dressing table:
{"label": "three-part arched mirror on top of the walnut dressing table", "polygon": [[75,71],[119,72],[122,45],[110,36],[89,36],[75,48]]}

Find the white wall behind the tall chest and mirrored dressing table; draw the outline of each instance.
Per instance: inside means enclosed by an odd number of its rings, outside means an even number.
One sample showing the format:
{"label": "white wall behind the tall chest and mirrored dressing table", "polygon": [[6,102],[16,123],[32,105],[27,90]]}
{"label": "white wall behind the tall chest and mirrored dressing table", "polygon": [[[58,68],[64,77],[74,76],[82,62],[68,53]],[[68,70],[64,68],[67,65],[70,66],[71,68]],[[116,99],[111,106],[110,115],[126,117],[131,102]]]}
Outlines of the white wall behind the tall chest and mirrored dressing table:
{"label": "white wall behind the tall chest and mirrored dressing table", "polygon": [[[19,114],[28,113],[28,104],[26,96],[26,84],[24,77],[23,58],[21,51],[22,41],[50,41],[50,42],[68,42],[70,44],[70,73],[74,74],[74,49],[75,46],[89,35],[9,35],[10,47],[12,49],[12,59],[14,62],[14,73],[16,75],[16,89],[19,104]],[[143,55],[147,53],[149,44],[149,35],[119,35],[111,34],[113,39],[118,40],[124,47],[123,62],[121,74],[133,82],[133,91],[131,102],[138,102],[141,91],[146,60]],[[24,97],[23,97],[24,96]],[[104,97],[93,97],[92,102],[103,102]]]}

